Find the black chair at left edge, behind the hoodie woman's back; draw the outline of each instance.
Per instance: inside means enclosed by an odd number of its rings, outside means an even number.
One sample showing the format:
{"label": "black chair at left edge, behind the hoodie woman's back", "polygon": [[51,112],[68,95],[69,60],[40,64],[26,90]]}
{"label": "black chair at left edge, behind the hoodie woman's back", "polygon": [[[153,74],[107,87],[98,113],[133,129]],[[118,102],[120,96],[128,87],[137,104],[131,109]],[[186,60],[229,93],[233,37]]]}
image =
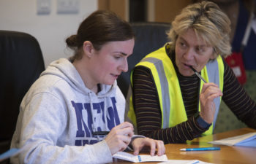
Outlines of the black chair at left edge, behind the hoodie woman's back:
{"label": "black chair at left edge, behind the hoodie woman's back", "polygon": [[[34,36],[0,31],[0,154],[10,149],[19,106],[32,83],[45,70],[42,51]],[[7,163],[5,160],[2,163]]]}

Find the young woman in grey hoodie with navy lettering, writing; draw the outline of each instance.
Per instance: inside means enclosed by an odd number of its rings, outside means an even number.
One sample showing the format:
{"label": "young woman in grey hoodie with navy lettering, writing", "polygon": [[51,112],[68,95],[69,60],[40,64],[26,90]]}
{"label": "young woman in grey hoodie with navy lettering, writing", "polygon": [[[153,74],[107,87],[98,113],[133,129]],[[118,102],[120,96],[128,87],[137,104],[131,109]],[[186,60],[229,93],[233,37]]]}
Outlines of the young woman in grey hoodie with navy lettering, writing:
{"label": "young woman in grey hoodie with navy lettering, writing", "polygon": [[[165,153],[162,141],[134,136],[124,122],[125,99],[116,85],[135,44],[129,23],[96,11],[69,36],[72,58],[50,63],[20,105],[11,163],[111,163],[127,147]],[[96,135],[110,131],[108,135]]]}

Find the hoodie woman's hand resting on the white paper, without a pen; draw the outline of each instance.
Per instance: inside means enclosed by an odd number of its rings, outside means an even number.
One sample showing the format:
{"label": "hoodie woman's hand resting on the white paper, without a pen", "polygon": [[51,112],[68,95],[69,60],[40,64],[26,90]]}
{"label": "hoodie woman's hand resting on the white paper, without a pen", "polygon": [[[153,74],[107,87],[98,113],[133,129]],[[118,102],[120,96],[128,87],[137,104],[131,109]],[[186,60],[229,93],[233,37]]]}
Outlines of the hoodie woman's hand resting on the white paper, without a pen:
{"label": "hoodie woman's hand resting on the white paper, without a pen", "polygon": [[151,138],[135,138],[132,141],[132,147],[133,147],[133,154],[138,155],[140,150],[148,146],[150,147],[150,155],[153,156],[157,149],[157,155],[164,155],[165,154],[165,145],[163,141],[160,140],[154,140]]}

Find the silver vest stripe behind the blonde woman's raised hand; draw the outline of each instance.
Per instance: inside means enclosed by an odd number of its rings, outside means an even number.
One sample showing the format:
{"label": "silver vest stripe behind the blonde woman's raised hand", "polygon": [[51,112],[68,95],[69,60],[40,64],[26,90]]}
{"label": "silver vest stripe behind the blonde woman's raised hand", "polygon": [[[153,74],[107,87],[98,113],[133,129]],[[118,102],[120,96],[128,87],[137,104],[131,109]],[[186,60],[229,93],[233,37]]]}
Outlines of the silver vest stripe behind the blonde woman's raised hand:
{"label": "silver vest stripe behind the blonde woman's raised hand", "polygon": [[[207,68],[209,82],[214,82],[219,86],[219,66],[218,66],[217,59],[209,61],[206,64],[206,68]],[[214,114],[213,129],[215,128],[215,122],[217,120],[217,116],[219,113],[220,98],[214,98],[214,104],[215,104],[216,111]]]}

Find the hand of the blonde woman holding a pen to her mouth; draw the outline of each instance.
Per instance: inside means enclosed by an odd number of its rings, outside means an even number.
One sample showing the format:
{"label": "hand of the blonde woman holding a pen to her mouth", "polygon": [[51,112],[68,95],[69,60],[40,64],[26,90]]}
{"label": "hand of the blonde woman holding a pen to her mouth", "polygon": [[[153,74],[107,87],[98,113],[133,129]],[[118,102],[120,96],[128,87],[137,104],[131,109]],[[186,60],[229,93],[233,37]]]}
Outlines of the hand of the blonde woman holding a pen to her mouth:
{"label": "hand of the blonde woman holding a pen to her mouth", "polygon": [[211,124],[214,121],[215,104],[214,98],[219,98],[223,93],[219,86],[210,82],[203,84],[200,93],[200,117]]}

